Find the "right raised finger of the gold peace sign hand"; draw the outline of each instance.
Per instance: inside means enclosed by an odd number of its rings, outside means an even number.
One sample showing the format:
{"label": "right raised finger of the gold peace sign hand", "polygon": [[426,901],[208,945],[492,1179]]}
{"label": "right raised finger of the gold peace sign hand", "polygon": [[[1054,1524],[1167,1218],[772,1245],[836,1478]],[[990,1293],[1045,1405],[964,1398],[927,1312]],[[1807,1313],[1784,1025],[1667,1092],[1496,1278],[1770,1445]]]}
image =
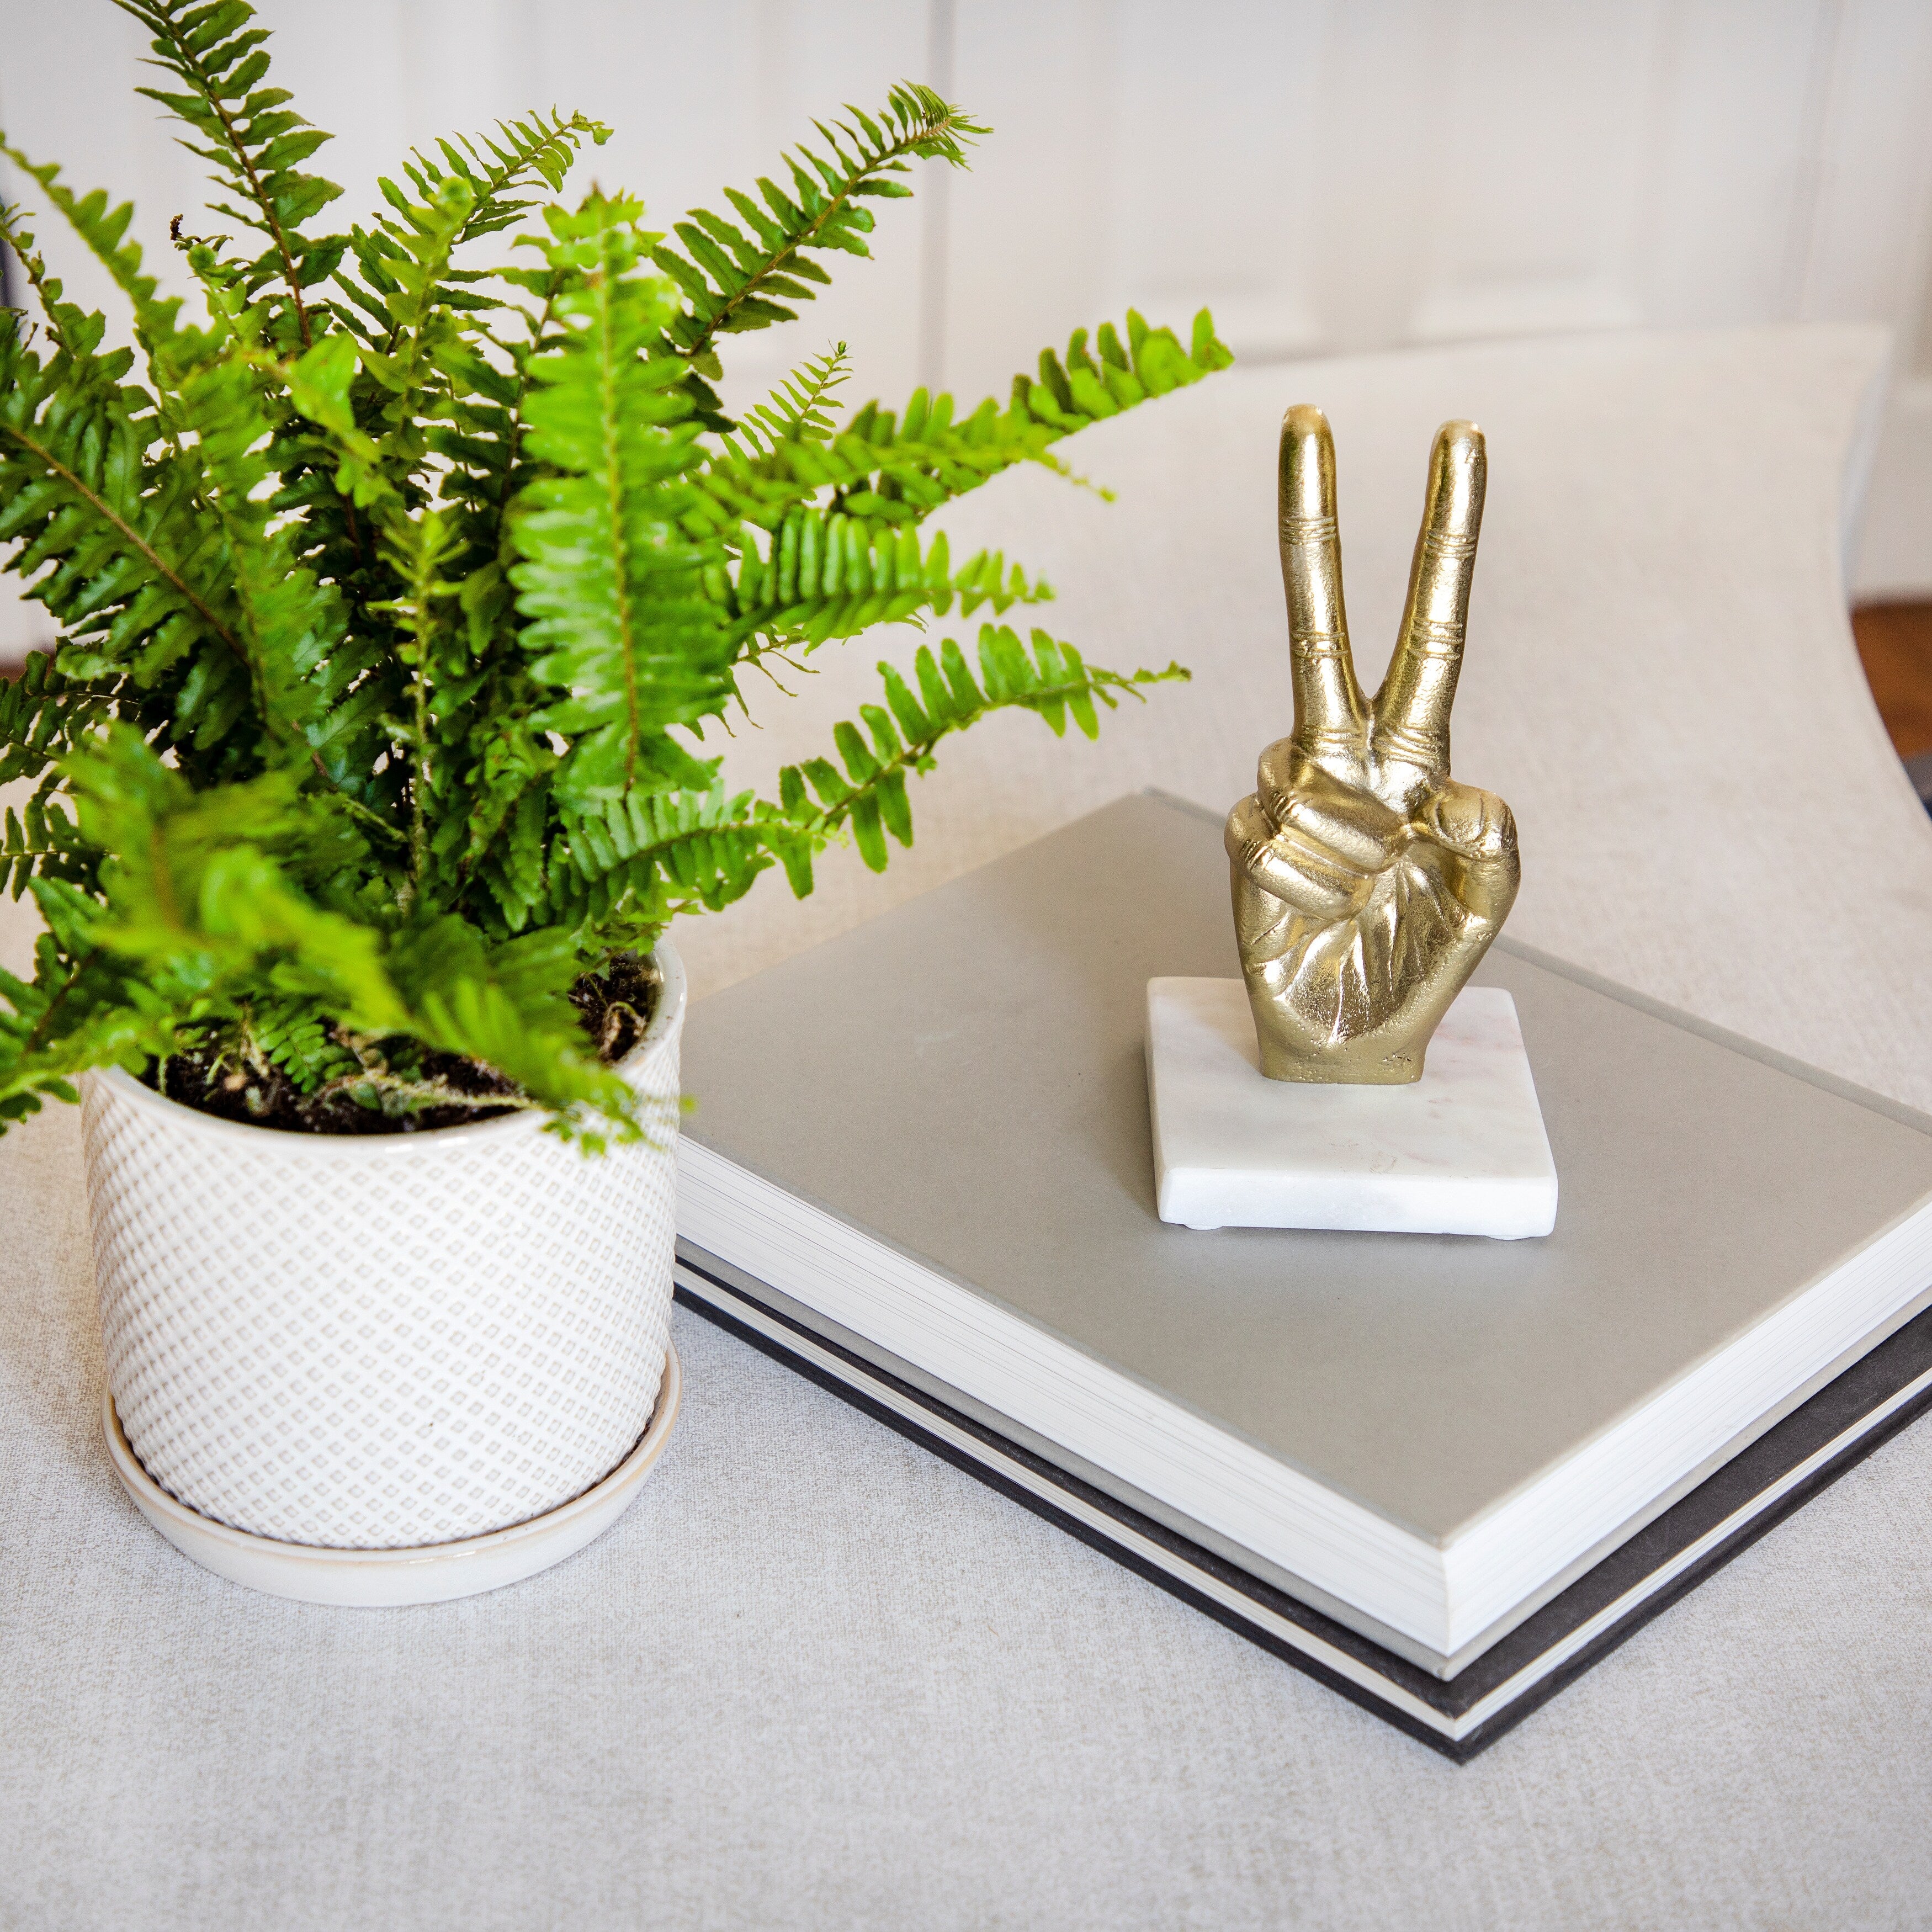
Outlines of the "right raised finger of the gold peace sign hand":
{"label": "right raised finger of the gold peace sign hand", "polygon": [[1381,763],[1412,765],[1432,777],[1449,769],[1449,707],[1463,668],[1486,477],[1482,431],[1474,423],[1443,423],[1430,450],[1408,605],[1374,703],[1372,736]]}

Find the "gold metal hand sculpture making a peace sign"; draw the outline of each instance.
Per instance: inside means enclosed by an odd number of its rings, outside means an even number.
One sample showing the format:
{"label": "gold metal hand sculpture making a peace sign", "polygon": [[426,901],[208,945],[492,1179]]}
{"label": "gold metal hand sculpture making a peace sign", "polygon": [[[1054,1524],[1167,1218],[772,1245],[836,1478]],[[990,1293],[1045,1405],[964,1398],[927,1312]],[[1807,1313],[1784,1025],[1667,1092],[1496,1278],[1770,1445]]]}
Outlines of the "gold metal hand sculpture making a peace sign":
{"label": "gold metal hand sculpture making a peace sign", "polygon": [[1486,456],[1474,423],[1430,452],[1408,605],[1374,701],[1349,655],[1335,440],[1296,404],[1281,423],[1281,576],[1294,730],[1262,753],[1227,819],[1235,937],[1271,1080],[1397,1086],[1517,896],[1517,821],[1449,777]]}

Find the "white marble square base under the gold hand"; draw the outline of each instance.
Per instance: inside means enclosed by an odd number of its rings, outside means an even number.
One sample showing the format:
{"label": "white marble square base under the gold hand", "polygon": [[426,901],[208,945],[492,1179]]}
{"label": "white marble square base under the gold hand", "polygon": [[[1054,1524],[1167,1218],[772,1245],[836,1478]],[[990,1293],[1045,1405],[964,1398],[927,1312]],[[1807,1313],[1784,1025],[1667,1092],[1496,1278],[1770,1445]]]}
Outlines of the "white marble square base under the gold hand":
{"label": "white marble square base under the gold hand", "polygon": [[1548,1235],[1557,1169],[1517,1003],[1470,985],[1412,1086],[1269,1080],[1240,980],[1148,981],[1163,1221],[1399,1235]]}

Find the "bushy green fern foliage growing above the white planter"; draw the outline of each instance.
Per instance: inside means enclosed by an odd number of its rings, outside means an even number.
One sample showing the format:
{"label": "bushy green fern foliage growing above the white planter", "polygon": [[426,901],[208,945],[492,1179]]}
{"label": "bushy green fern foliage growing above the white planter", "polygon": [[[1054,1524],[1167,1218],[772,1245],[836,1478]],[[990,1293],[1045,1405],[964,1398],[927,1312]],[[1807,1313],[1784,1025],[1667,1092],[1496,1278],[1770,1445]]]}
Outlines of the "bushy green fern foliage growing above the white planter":
{"label": "bushy green fern foliage growing above the white planter", "polygon": [[[1065,475],[1066,435],[1219,367],[1206,317],[1182,344],[1130,313],[1005,400],[922,388],[842,427],[829,346],[723,415],[719,346],[869,253],[912,162],[964,162],[981,129],[937,95],[817,124],[668,238],[622,193],[547,207],[506,263],[466,249],[554,195],[597,122],[417,149],[323,234],[328,137],[245,0],[126,10],[228,234],[176,230],[187,325],[131,207],[6,149],[131,305],[145,375],[0,211],[39,309],[0,328],[0,556],[58,638],[0,684],[0,782],[27,781],[0,889],[44,927],[31,974],[0,972],[0,1122],[193,1045],[383,1105],[429,1103],[410,1068],[454,1053],[585,1146],[636,1134],[580,974],[765,871],[810,893],[833,840],[883,867],[951,732],[1030,709],[1092,736],[1182,676],[1022,641],[1001,618],[1047,585],[920,526],[1014,464]],[[949,612],[995,622],[881,667],[773,798],[723,788],[705,734],[748,670],[777,690],[831,639]]]}

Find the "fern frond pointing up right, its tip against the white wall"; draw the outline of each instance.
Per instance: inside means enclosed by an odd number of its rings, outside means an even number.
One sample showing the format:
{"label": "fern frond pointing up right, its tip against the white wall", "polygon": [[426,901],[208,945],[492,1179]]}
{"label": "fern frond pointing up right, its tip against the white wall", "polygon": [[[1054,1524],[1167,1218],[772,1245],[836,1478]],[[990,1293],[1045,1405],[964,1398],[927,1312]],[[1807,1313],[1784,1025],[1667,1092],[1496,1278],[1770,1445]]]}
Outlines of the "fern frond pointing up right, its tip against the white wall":
{"label": "fern frond pointing up right, its tip against the white wall", "polygon": [[908,160],[966,166],[966,147],[987,133],[929,87],[902,83],[887,95],[877,120],[848,106],[850,120],[815,122],[827,153],[800,145],[786,156],[790,193],[759,176],[757,199],[732,187],[724,199],[736,222],[692,209],[672,224],[682,251],[661,242],[651,259],[684,290],[686,307],[670,328],[680,354],[697,359],[721,334],[788,323],[790,301],[811,301],[831,276],[811,253],[869,255],[871,213],[862,197],[902,197],[912,189],[895,176]]}

